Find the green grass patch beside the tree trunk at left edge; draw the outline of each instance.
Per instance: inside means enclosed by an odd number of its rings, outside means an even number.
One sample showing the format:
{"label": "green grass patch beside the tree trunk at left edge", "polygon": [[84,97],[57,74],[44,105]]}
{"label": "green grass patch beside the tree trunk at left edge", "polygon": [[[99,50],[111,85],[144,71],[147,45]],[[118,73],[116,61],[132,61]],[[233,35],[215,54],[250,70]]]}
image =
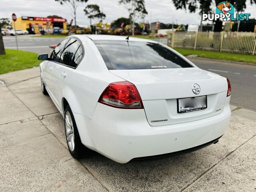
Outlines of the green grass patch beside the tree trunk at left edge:
{"label": "green grass patch beside the tree trunk at left edge", "polygon": [[11,49],[5,51],[6,55],[0,55],[0,74],[39,66],[36,53]]}

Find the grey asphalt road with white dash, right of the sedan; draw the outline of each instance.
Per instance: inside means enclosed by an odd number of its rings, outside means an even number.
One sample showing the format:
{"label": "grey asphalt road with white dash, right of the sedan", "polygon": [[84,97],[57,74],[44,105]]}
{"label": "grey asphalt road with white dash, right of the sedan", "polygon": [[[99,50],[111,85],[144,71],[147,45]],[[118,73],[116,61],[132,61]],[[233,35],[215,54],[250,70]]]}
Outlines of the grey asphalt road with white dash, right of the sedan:
{"label": "grey asphalt road with white dash, right of the sedan", "polygon": [[198,67],[230,80],[231,104],[256,111],[256,66],[190,59]]}

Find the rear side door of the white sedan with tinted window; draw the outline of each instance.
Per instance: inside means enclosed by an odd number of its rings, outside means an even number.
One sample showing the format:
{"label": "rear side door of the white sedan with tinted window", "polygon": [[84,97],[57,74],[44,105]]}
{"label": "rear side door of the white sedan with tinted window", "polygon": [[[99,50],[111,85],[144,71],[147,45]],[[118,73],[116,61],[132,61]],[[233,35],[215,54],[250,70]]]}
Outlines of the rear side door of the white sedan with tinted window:
{"label": "rear side door of the white sedan with tinted window", "polygon": [[81,43],[76,38],[70,38],[62,51],[59,62],[54,64],[52,71],[52,88],[58,108],[62,108],[62,92],[69,74],[74,70],[83,54]]}

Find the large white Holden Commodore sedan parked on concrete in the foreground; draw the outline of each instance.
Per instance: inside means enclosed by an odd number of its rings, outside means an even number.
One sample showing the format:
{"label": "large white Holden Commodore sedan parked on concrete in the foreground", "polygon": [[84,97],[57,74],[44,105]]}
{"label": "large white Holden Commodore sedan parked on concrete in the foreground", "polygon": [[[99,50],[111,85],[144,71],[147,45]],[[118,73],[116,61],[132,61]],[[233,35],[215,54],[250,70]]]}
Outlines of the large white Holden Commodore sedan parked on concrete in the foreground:
{"label": "large white Holden Commodore sedan parked on concrete in the foreground", "polygon": [[228,126],[228,78],[158,42],[74,35],[38,59],[42,92],[64,117],[75,158],[183,154],[218,142]]}

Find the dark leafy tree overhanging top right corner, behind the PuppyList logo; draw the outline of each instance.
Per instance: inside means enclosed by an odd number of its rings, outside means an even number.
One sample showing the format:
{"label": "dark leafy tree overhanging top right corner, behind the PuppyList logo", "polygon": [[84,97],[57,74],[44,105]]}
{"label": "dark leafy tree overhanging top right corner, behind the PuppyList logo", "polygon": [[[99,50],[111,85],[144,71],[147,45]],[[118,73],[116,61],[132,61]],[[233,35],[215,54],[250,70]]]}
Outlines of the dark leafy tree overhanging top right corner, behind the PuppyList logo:
{"label": "dark leafy tree overhanging top right corner, behind the PuppyList logo", "polygon": [[[246,0],[227,0],[230,2],[237,12],[242,12],[246,8]],[[212,13],[215,6],[218,5],[223,0],[172,0],[176,9],[187,9],[189,12],[196,12],[196,10],[200,11],[200,14],[208,14]],[[250,0],[250,3],[256,4],[256,0]],[[215,22],[214,31],[221,31],[222,22],[217,20]]]}

